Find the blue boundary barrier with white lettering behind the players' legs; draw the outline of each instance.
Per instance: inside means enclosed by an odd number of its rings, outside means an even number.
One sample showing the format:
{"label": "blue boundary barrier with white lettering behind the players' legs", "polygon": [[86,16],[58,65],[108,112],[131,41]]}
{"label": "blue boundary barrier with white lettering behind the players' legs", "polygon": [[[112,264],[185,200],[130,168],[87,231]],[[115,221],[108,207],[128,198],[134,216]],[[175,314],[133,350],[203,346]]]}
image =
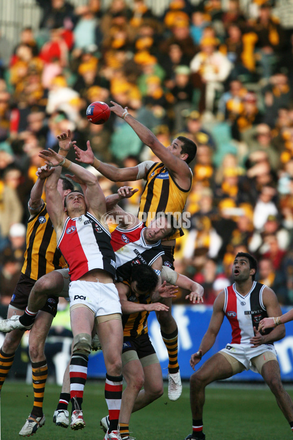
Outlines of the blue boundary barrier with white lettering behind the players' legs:
{"label": "blue boundary barrier with white lettering behind the players' legs", "polygon": [[[282,308],[283,313],[290,308]],[[189,379],[193,373],[189,365],[189,359],[192,353],[198,350],[203,335],[209,326],[209,320],[212,314],[211,306],[173,306],[172,314],[177,322],[179,330],[179,350],[178,359],[180,365],[180,374],[183,379]],[[167,350],[161,337],[160,326],[154,312],[148,317],[148,332],[154,348],[159,357],[163,377],[167,376],[168,356]],[[214,346],[203,357],[198,367],[207,360],[212,354],[218,352],[231,342],[231,327],[224,318],[222,327],[216,338]],[[280,364],[282,380],[293,381],[293,322],[286,324],[286,336],[274,343],[277,351],[277,357]],[[105,377],[105,364],[102,352],[91,353],[88,363],[88,377]],[[259,374],[251,371],[244,371],[236,374],[230,381],[255,381],[262,380]]]}

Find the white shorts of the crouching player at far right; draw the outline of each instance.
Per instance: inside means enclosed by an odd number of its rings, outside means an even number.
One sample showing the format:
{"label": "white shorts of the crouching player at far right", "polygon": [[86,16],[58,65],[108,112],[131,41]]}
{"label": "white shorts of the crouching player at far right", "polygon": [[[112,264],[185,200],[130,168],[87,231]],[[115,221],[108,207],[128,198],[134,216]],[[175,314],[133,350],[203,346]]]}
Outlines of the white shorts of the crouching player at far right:
{"label": "white shorts of the crouching player at far right", "polygon": [[264,352],[272,352],[275,356],[277,355],[274,346],[270,344],[262,344],[254,348],[251,348],[251,344],[227,344],[226,348],[220,350],[220,352],[230,354],[230,356],[241,362],[246,370],[251,370],[254,373],[258,373],[258,371],[251,363],[253,357],[259,356],[259,354]]}

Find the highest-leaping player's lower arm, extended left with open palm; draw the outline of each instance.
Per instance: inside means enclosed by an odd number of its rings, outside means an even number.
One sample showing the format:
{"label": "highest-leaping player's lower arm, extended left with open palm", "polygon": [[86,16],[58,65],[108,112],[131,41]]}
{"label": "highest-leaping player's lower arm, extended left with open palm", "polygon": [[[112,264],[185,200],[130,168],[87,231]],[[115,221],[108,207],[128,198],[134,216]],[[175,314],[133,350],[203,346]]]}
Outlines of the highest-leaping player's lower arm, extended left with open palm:
{"label": "highest-leaping player's lower arm, extended left with open palm", "polygon": [[137,180],[139,168],[117,168],[113,165],[102,162],[95,158],[90,146],[90,142],[86,142],[86,150],[81,150],[77,145],[74,147],[77,162],[87,163],[93,166],[96,170],[99,170],[103,176],[107,177],[112,182],[126,182],[127,180]]}

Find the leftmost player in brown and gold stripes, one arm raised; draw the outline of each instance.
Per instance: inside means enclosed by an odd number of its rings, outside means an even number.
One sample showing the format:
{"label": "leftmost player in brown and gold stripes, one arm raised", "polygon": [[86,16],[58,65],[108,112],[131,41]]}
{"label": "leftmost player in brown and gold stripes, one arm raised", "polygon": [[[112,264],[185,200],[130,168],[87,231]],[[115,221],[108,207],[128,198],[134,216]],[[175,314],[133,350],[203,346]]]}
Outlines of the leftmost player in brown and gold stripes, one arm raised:
{"label": "leftmost player in brown and gold stripes, one arm raised", "polygon": [[[56,233],[49,219],[46,203],[42,200],[44,182],[47,176],[52,174],[47,167],[38,169],[38,179],[32,188],[28,202],[30,218],[27,224],[26,250],[24,264],[21,269],[20,279],[15,287],[9,304],[7,318],[14,315],[22,315],[27,310],[27,301],[36,281],[42,275],[54,269],[62,269],[66,266],[61,252],[57,249]],[[60,194],[65,197],[74,186],[69,179],[61,177],[58,188]],[[57,313],[58,297],[47,299],[45,306],[39,311],[35,324],[29,335],[29,355],[32,363],[34,405],[29,418],[26,420],[20,435],[27,436],[36,432],[38,427],[45,422],[42,413],[45,382],[48,369],[44,355],[44,344],[54,316]],[[7,374],[12,366],[16,349],[18,348],[25,330],[12,330],[5,335],[0,348],[0,391]]]}

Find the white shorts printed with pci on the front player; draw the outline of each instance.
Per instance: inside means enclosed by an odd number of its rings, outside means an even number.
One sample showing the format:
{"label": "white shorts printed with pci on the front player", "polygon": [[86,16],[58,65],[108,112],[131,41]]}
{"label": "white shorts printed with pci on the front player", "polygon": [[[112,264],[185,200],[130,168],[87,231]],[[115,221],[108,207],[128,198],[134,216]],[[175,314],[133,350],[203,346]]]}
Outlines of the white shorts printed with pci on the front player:
{"label": "white shorts printed with pci on the front player", "polygon": [[95,317],[122,313],[118,290],[114,283],[71,281],[69,284],[70,307],[83,304]]}

